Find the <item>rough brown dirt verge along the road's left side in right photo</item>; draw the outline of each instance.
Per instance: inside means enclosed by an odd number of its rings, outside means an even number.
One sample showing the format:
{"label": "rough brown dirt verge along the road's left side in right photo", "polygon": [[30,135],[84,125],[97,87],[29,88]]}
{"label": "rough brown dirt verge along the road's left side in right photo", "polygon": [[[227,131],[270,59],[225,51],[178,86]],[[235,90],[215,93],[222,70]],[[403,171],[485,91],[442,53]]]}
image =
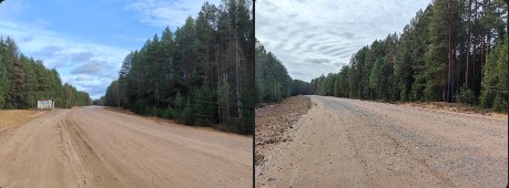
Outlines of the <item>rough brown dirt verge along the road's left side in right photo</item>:
{"label": "rough brown dirt verge along the road's left side in right photo", "polygon": [[264,105],[256,108],[255,122],[255,164],[264,161],[266,147],[281,142],[288,142],[292,138],[284,133],[298,118],[311,108],[311,100],[307,96],[292,96],[281,103]]}

